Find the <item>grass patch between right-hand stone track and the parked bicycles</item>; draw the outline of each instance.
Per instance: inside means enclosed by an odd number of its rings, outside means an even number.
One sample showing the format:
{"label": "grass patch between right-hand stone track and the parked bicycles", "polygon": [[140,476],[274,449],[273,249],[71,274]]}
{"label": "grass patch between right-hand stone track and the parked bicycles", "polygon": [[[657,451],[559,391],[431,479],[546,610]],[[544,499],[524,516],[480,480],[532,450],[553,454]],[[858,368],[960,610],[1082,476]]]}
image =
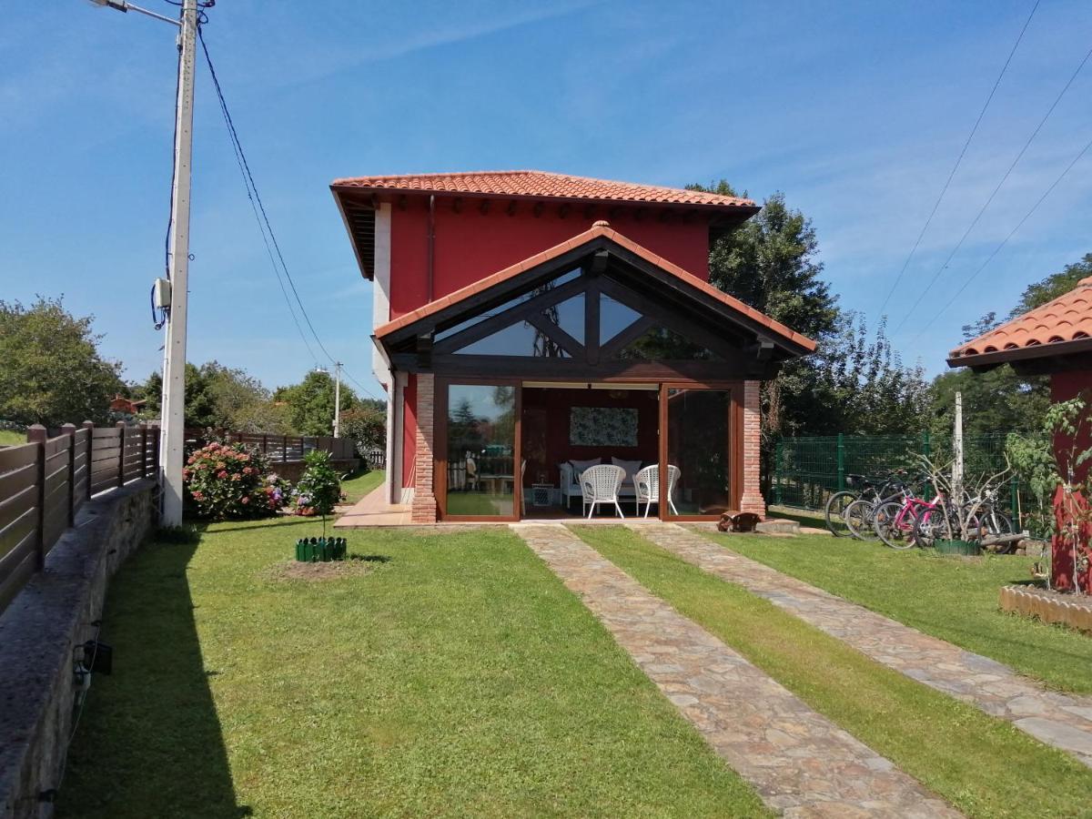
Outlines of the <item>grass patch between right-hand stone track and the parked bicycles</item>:
{"label": "grass patch between right-hand stone track and the parked bicycles", "polygon": [[941,557],[819,535],[702,534],[767,566],[921,631],[1000,661],[1049,686],[1092,693],[1092,639],[1002,614],[998,590],[1026,582],[1036,558]]}

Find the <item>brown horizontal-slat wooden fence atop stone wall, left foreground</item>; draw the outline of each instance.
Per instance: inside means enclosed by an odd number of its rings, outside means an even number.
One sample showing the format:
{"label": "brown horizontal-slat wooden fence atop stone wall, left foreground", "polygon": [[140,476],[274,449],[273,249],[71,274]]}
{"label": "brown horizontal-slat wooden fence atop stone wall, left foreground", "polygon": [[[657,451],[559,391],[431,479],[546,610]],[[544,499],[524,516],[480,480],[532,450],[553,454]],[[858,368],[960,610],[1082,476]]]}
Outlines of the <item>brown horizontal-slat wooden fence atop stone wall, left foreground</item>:
{"label": "brown horizontal-slat wooden fence atop stone wall, left foreground", "polygon": [[66,424],[0,449],[0,612],[45,566],[46,555],[92,496],[154,475],[159,430]]}

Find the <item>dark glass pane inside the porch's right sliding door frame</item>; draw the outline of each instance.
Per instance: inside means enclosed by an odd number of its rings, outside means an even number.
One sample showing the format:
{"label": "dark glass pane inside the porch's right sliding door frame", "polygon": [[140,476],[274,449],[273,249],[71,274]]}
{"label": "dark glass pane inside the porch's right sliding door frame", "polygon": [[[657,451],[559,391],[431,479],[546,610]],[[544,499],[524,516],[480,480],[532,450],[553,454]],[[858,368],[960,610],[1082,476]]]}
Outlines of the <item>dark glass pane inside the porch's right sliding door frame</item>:
{"label": "dark glass pane inside the porch's right sliding door frame", "polygon": [[667,391],[667,463],[679,468],[678,514],[731,509],[731,395],[727,390]]}

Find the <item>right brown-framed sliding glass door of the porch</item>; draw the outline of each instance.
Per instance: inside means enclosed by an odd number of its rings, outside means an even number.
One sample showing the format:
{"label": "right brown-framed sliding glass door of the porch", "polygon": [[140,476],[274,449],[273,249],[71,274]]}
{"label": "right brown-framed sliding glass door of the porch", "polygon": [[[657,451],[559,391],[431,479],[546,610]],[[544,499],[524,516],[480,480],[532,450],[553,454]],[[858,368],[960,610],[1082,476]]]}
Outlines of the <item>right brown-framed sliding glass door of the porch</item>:
{"label": "right brown-framed sliding glass door of the porch", "polygon": [[661,497],[664,518],[719,518],[738,505],[732,389],[661,390]]}

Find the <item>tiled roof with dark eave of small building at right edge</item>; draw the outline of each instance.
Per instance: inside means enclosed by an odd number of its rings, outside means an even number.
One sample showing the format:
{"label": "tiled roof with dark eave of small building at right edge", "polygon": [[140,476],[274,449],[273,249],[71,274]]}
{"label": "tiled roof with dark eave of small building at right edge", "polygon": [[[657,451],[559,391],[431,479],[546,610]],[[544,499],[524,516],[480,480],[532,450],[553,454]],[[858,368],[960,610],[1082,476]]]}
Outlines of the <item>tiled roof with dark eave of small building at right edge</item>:
{"label": "tiled roof with dark eave of small building at right edge", "polygon": [[[1092,339],[1092,276],[948,354],[950,367],[1030,360],[1084,352]],[[1077,344],[1073,344],[1077,342]]]}

